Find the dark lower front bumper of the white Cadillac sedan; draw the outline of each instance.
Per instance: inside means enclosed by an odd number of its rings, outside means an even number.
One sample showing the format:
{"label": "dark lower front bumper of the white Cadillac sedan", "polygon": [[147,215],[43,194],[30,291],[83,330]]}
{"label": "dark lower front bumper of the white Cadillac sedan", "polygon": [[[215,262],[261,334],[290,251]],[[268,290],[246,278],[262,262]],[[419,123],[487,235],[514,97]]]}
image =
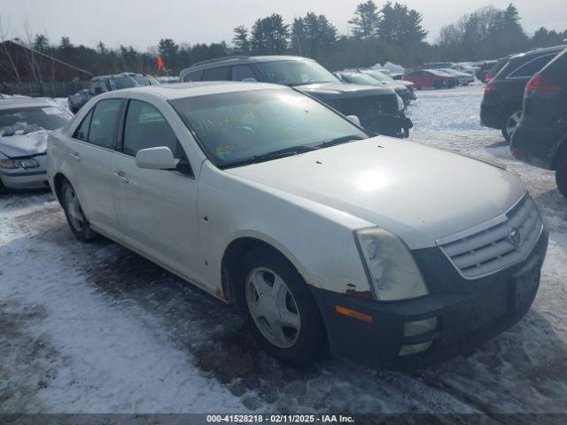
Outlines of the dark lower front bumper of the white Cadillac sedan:
{"label": "dark lower front bumper of the white Cadillac sedan", "polygon": [[[547,246],[544,228],[525,259],[476,280],[462,278],[437,248],[415,251],[431,295],[408,301],[369,301],[313,288],[330,350],[340,358],[394,369],[426,367],[471,352],[527,313],[539,287]],[[366,314],[371,322],[339,314],[336,305]],[[404,335],[406,323],[432,317],[437,318],[435,330]],[[423,352],[400,356],[402,347],[430,342]]]}

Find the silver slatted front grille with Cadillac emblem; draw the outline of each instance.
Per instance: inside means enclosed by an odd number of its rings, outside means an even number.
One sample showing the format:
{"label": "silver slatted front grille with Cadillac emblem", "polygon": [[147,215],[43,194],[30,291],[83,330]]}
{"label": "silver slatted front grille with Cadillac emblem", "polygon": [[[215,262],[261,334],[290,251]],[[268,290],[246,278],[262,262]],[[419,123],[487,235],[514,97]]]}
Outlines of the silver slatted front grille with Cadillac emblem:
{"label": "silver slatted front grille with Cadillac emblem", "polygon": [[526,194],[508,213],[437,243],[464,277],[474,279],[524,259],[542,228],[540,213]]}

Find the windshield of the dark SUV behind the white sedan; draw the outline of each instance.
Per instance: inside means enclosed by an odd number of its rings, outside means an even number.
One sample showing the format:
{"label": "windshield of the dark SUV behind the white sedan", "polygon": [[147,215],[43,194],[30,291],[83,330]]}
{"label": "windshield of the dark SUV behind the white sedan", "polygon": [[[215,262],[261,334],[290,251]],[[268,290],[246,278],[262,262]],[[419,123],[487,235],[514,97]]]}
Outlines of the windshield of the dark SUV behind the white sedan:
{"label": "windshield of the dark SUV behind the white sedan", "polygon": [[259,63],[268,82],[285,86],[299,86],[314,82],[337,82],[337,78],[311,60],[278,60]]}

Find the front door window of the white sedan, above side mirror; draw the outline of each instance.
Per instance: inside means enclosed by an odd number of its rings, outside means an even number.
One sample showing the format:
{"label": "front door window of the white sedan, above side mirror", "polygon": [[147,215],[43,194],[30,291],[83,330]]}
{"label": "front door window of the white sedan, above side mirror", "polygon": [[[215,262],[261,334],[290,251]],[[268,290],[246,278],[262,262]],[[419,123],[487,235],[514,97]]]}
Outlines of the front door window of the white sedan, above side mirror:
{"label": "front door window of the white sedan, above side mirror", "polygon": [[136,157],[142,149],[167,146],[175,158],[184,158],[174,130],[158,109],[146,102],[130,100],[124,125],[123,151]]}

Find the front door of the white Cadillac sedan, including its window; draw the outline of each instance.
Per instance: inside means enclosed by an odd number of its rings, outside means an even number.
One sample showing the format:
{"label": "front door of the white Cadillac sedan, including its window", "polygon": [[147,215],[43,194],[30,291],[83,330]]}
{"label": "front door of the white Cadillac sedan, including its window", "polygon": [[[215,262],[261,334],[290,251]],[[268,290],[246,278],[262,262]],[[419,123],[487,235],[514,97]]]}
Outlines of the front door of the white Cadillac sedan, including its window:
{"label": "front door of the white Cadillac sedan, including its window", "polygon": [[[147,101],[128,100],[122,142],[112,164],[114,205],[126,243],[202,282],[197,273],[198,182],[189,171],[189,158],[166,119],[167,113],[175,114],[167,104],[159,109]],[[157,146],[167,146],[175,158],[186,163],[187,170],[138,168],[137,151]]]}

